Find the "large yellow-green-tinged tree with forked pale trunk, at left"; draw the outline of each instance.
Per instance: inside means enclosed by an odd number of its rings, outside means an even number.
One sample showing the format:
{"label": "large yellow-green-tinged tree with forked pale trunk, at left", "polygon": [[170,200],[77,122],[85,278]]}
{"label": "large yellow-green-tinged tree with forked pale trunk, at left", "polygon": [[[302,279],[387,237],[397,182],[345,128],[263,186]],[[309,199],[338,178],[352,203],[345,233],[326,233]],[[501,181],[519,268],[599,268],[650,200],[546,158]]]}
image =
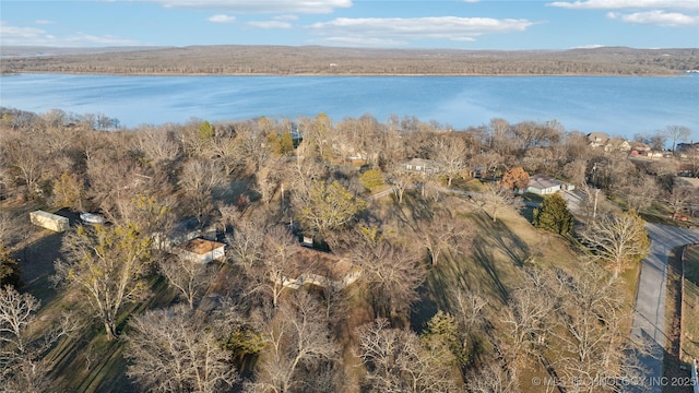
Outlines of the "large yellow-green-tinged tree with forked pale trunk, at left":
{"label": "large yellow-green-tinged tree with forked pale trunk, at left", "polygon": [[117,336],[123,306],[145,290],[150,248],[151,239],[133,225],[78,227],[63,240],[67,259],[56,261],[55,278],[85,296],[108,341]]}

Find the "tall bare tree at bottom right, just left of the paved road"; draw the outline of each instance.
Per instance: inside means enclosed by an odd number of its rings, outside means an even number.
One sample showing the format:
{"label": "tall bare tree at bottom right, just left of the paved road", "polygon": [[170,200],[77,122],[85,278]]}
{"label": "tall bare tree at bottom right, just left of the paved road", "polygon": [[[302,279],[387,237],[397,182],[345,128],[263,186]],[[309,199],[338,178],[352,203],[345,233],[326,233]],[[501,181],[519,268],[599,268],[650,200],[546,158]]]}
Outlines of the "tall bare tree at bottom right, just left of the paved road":
{"label": "tall bare tree at bottom right, just left of the paved road", "polygon": [[[570,381],[568,392],[593,392],[601,374],[605,380],[635,380],[644,374],[638,356],[647,344],[628,335],[632,309],[624,302],[620,282],[604,279],[606,273],[594,264],[583,264],[572,276],[559,272],[558,285],[566,296],[558,309],[564,330],[556,330],[558,376]],[[580,381],[574,383],[572,381]],[[614,389],[614,386],[603,386]]]}

